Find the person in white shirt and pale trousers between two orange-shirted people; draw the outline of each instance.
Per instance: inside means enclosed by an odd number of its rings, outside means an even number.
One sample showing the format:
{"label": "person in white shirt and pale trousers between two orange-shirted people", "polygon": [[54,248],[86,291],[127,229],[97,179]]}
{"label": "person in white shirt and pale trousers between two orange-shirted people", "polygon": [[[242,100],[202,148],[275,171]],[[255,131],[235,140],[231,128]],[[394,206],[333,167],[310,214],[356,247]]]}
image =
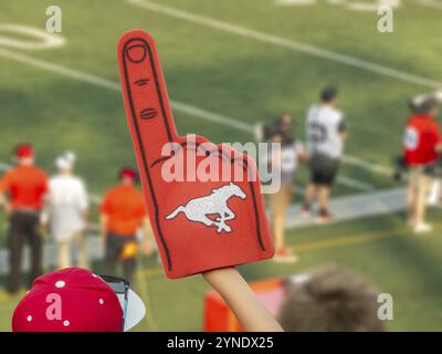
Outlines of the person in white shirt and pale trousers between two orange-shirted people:
{"label": "person in white shirt and pale trousers between two orange-shirted people", "polygon": [[87,269],[84,230],[88,200],[84,183],[74,176],[75,155],[66,152],[55,159],[56,175],[49,181],[45,214],[49,230],[57,244],[59,269],[73,266],[72,244],[77,247],[78,267]]}

